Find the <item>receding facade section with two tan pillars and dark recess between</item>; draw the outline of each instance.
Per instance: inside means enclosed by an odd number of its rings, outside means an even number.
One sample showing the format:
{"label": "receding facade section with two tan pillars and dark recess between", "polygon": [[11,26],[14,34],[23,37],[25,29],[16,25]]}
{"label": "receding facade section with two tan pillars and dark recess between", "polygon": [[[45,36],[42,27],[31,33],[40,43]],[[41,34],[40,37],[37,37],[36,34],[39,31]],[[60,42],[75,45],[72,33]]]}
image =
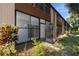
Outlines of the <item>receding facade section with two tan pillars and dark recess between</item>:
{"label": "receding facade section with two tan pillars and dark recess between", "polygon": [[51,8],[51,23],[53,24],[53,42],[55,42],[59,35],[65,33],[66,26],[64,25],[64,19],[62,16],[56,10],[54,10],[54,8]]}

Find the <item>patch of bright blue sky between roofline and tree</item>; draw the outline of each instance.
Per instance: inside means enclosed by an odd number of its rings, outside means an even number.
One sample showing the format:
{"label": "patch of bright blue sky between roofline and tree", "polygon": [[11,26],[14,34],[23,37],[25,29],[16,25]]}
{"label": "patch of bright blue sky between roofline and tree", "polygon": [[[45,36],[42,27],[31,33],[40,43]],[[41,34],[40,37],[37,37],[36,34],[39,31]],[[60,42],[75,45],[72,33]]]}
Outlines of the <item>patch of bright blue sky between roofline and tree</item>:
{"label": "patch of bright blue sky between roofline and tree", "polygon": [[52,3],[52,6],[66,19],[69,17],[68,9],[64,3]]}

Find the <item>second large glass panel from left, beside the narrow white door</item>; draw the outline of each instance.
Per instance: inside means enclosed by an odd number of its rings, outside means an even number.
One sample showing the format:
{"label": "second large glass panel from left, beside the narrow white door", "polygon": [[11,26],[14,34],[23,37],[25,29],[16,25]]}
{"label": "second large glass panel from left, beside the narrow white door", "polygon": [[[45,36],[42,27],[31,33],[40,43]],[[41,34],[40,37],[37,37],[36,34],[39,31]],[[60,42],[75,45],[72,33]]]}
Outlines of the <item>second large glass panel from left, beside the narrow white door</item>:
{"label": "second large glass panel from left, beside the narrow white door", "polygon": [[39,19],[31,16],[31,38],[39,39]]}

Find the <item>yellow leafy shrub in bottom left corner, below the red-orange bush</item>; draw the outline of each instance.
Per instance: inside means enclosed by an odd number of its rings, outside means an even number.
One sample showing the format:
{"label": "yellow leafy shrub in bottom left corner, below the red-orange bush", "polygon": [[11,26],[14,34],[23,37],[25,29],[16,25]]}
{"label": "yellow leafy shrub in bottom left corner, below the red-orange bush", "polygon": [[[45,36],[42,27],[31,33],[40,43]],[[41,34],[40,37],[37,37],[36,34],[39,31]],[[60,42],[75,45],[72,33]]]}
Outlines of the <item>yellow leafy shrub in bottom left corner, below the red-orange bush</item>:
{"label": "yellow leafy shrub in bottom left corner, below the red-orange bush", "polygon": [[0,55],[1,56],[16,55],[14,42],[0,46]]}

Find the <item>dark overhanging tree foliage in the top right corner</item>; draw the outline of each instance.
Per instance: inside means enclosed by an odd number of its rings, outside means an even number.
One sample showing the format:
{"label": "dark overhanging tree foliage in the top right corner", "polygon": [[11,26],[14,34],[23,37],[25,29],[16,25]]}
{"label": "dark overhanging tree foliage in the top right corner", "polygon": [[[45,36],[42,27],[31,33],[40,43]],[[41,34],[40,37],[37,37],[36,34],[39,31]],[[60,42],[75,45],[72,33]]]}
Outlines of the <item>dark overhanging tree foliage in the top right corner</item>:
{"label": "dark overhanging tree foliage in the top right corner", "polygon": [[79,18],[79,3],[70,3],[66,4],[66,7],[69,9],[70,17],[67,19],[69,23],[75,23],[77,18]]}

